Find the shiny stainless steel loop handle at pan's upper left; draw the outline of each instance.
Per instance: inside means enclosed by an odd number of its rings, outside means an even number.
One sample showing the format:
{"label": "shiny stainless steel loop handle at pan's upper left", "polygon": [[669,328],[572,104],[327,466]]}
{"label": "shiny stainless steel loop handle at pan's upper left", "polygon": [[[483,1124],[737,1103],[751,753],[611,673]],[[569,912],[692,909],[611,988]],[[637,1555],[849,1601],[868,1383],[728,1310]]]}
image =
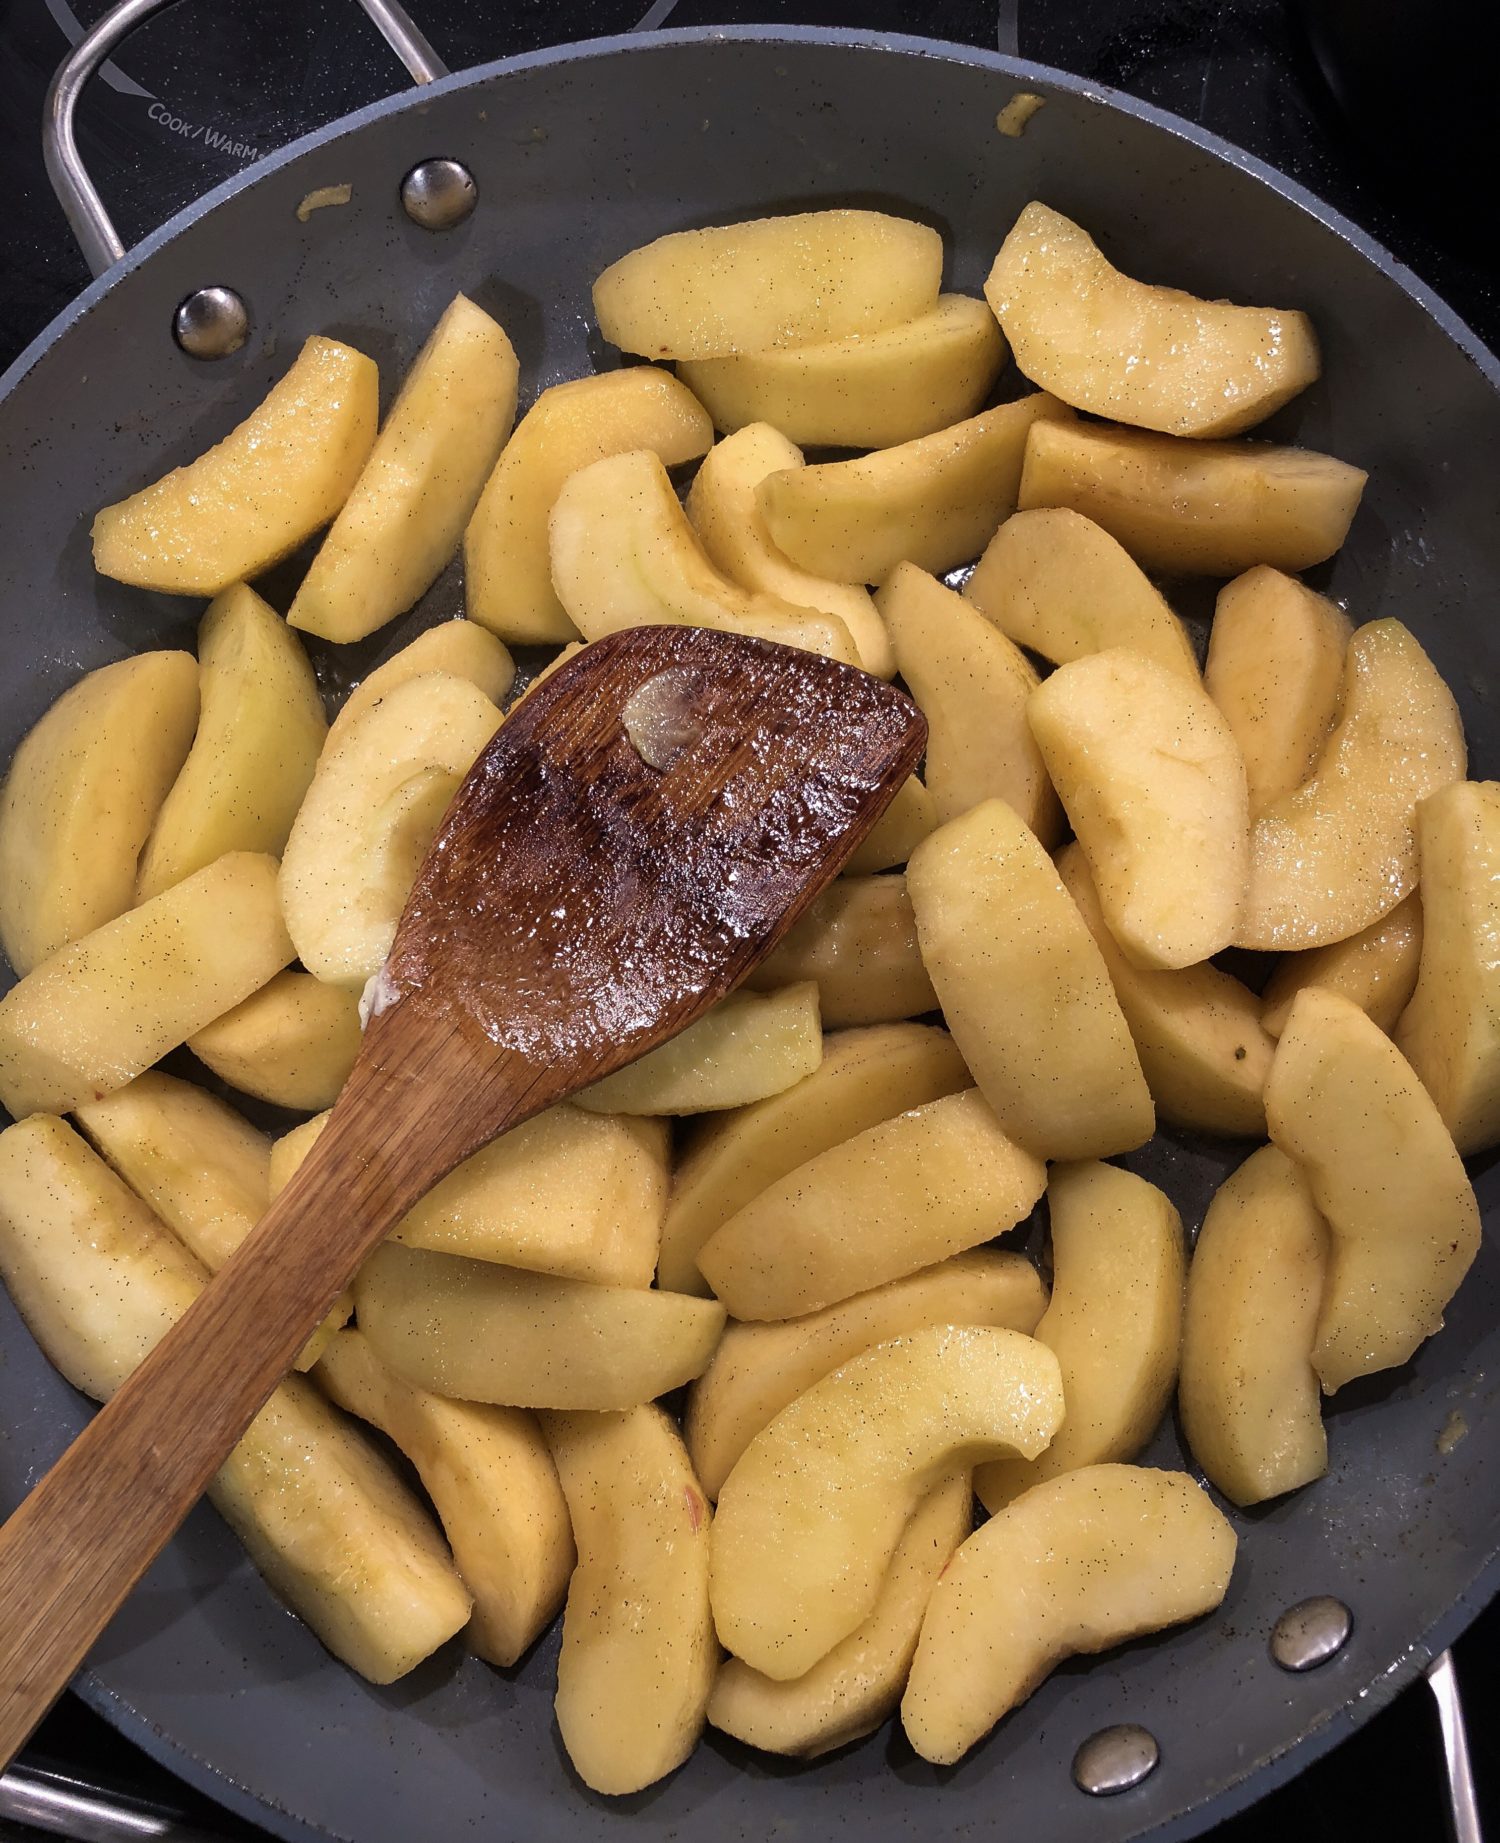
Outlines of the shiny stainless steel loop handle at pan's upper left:
{"label": "shiny stainless steel loop handle at pan's upper left", "polygon": [[[98,26],[77,41],[57,66],[57,76],[46,92],[42,157],[48,179],[94,275],[103,275],[120,262],[125,245],[77,151],[74,135],[77,100],[100,65],[136,26],[175,4],[177,0],[120,0],[120,6],[111,7]],[[359,0],[359,4],[405,65],[413,83],[433,83],[448,76],[448,66],[422,37],[400,0]]]}

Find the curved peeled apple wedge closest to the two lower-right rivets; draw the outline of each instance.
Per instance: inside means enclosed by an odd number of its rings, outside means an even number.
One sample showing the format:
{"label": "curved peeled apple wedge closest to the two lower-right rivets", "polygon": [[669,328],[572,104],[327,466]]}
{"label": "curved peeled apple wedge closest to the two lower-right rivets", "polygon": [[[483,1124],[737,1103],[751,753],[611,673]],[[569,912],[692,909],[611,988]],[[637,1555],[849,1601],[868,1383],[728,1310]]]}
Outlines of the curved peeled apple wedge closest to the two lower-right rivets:
{"label": "curved peeled apple wedge closest to the two lower-right rivets", "polygon": [[921,1622],[901,1725],[951,1766],[1065,1657],[1201,1618],[1235,1532],[1185,1473],[1089,1465],[1034,1485],[964,1543]]}

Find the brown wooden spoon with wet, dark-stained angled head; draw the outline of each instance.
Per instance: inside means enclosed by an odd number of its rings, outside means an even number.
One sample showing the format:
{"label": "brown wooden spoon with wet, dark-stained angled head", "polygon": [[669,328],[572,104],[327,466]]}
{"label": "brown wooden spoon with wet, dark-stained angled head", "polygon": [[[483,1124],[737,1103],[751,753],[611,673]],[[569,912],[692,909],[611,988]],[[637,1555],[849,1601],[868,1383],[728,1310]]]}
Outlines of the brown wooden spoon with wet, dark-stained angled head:
{"label": "brown wooden spoon with wet, dark-stained angled head", "polygon": [[848,665],[680,627],[597,640],[512,711],[422,863],[317,1148],[0,1530],[0,1764],[365,1255],[461,1159],[737,986],[925,732]]}

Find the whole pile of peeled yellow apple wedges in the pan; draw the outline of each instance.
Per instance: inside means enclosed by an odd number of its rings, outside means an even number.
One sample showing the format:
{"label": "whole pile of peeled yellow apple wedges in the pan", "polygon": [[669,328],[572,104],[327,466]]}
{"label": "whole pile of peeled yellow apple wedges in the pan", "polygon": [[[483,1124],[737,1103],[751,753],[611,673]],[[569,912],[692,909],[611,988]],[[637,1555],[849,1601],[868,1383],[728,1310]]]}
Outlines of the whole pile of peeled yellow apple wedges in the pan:
{"label": "whole pile of peeled yellow apple wedges in the pan", "polygon": [[[1500,787],[1417,640],[1297,579],[1364,474],[1238,439],[1318,378],[1312,328],[1043,205],[986,300],[942,264],[877,212],[665,236],[593,289],[652,363],[514,431],[464,297],[383,422],[370,359],[310,339],[98,514],[105,575],[212,597],[197,658],[85,676],[0,792],[0,1272],[105,1399],[322,1130],[510,645],[695,623],[921,704],[923,776],[750,988],[416,1203],[214,1485],[380,1683],[459,1631],[510,1666],[566,1600],[601,1791],[704,1721],[818,1755],[897,1705],[951,1762],[1061,1657],[1207,1613],[1231,1517],[1131,1463],[1174,1390],[1231,1506],[1307,1485],[1321,1391],[1406,1362],[1478,1250]],[[995,400],[1008,356],[1032,389]],[[282,617],[249,582],[324,527]],[[330,724],[299,634],[374,634],[459,546],[466,619]],[[1201,669],[1183,575],[1224,581]],[[302,1119],[271,1143],[195,1071]],[[1251,1148],[1190,1255],[1109,1163],[1157,1122]],[[991,1246],[1041,1200],[1050,1286]]]}

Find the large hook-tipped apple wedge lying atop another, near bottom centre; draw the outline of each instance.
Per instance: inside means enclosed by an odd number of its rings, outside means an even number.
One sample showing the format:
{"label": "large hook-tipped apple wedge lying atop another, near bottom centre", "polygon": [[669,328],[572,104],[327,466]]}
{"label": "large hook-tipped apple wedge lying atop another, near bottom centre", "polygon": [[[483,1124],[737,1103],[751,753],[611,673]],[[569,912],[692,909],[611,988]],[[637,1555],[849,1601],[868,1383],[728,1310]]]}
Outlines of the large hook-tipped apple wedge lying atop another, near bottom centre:
{"label": "large hook-tipped apple wedge lying atop another, near bottom centre", "polygon": [[873,1611],[921,1500],[977,1460],[1034,1458],[1061,1414],[1056,1356],[1019,1331],[916,1331],[824,1377],[719,1493],[721,1642],[778,1683],[803,1675]]}

